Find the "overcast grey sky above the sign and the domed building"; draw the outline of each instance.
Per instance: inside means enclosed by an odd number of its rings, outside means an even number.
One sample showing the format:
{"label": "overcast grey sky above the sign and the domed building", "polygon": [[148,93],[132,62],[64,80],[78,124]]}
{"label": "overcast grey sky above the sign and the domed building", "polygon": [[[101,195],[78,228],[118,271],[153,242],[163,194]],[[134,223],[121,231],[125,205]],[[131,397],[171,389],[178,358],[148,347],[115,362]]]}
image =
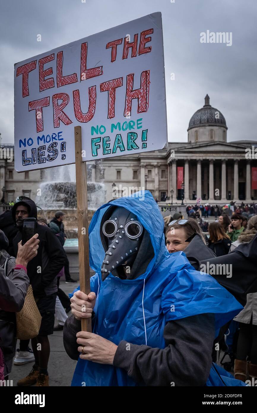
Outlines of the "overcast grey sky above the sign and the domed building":
{"label": "overcast grey sky above the sign and the domed building", "polygon": [[[163,18],[168,140],[187,141],[206,93],[226,118],[229,141],[256,140],[256,0],[172,1],[0,0],[2,143],[14,142],[14,63],[153,12]],[[232,32],[232,45],[200,43],[207,30]]]}

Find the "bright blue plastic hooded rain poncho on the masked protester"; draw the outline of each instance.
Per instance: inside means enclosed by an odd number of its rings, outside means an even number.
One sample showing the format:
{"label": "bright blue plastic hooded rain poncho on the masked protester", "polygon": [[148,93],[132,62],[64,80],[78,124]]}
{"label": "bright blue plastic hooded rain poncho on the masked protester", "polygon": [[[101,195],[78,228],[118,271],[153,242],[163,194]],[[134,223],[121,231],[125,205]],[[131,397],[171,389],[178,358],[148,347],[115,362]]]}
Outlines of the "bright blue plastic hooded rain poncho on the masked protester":
{"label": "bright blue plastic hooded rain poncho on the masked protester", "polygon": [[[110,205],[134,213],[150,234],[154,256],[145,273],[133,280],[109,274],[101,281],[105,251],[100,240],[100,223]],[[149,191],[137,192],[100,207],[89,228],[90,266],[96,272],[90,279],[97,295],[93,332],[115,344],[126,340],[165,348],[163,330],[168,321],[203,313],[214,313],[216,330],[240,312],[242,306],[218,282],[196,271],[183,252],[169,254],[165,247],[163,217]],[[77,290],[77,289],[76,289]],[[75,291],[76,291],[75,290]],[[223,380],[212,366],[207,385],[240,385],[225,370]],[[232,382],[231,382],[232,383]],[[121,368],[78,359],[72,386],[136,386]]]}

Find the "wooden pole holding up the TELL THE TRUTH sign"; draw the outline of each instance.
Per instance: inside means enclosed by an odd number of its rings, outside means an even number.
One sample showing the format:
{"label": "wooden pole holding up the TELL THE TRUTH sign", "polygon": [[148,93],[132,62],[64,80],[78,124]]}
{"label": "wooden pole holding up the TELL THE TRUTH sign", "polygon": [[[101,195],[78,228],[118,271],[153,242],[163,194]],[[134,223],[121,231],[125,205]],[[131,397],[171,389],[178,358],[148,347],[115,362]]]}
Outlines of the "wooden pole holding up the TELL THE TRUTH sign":
{"label": "wooden pole holding up the TELL THE TRUTH sign", "polygon": [[[80,291],[90,293],[89,238],[87,212],[87,163],[82,161],[81,126],[75,126],[75,164],[78,211],[78,260]],[[91,318],[81,319],[81,330],[92,332]]]}

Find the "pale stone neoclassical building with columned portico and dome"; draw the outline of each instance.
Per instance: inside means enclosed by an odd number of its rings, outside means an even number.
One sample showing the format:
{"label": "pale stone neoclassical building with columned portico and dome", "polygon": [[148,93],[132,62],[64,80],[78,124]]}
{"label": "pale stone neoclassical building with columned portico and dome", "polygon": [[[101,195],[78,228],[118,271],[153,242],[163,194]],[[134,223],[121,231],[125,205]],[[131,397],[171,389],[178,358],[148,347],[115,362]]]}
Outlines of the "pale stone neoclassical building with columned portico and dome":
{"label": "pale stone neoclassical building with columned portico and dome", "polygon": [[[167,203],[173,193],[173,204],[181,204],[183,186],[184,203],[257,200],[257,159],[247,159],[245,154],[247,148],[257,147],[257,141],[227,142],[227,129],[224,115],[210,105],[206,95],[205,104],[189,121],[188,142],[169,142],[159,151],[88,162],[88,180],[104,184],[106,201],[126,195],[126,190],[146,188],[160,201],[166,197]],[[22,194],[35,199],[44,176],[43,171],[17,173],[14,161],[0,159],[0,190],[4,188],[7,202]]]}

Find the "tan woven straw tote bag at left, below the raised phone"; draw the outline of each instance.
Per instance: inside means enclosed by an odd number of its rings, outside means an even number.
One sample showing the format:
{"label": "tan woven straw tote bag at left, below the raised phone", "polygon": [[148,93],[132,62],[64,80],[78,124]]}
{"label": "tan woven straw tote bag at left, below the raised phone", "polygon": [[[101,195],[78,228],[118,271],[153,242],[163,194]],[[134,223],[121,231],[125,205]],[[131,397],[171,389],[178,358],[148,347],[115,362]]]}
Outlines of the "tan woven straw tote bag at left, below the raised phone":
{"label": "tan woven straw tote bag at left, below the raised phone", "polygon": [[31,285],[25,297],[24,306],[16,313],[16,337],[20,340],[28,340],[37,337],[42,317],[33,296]]}

